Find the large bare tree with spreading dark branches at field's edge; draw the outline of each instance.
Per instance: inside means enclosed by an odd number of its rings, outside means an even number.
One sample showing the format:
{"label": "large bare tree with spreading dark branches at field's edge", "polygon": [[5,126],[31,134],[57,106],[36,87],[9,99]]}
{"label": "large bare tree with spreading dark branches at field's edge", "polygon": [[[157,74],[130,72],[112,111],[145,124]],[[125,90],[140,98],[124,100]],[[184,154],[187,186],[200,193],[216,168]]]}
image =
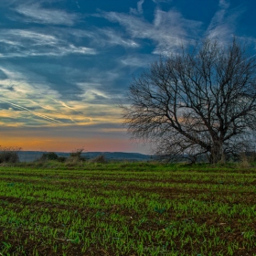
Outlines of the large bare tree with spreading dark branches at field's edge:
{"label": "large bare tree with spreading dark branches at field's edge", "polygon": [[133,138],[157,155],[224,155],[248,149],[256,126],[256,61],[233,39],[206,39],[161,58],[133,80],[123,120]]}

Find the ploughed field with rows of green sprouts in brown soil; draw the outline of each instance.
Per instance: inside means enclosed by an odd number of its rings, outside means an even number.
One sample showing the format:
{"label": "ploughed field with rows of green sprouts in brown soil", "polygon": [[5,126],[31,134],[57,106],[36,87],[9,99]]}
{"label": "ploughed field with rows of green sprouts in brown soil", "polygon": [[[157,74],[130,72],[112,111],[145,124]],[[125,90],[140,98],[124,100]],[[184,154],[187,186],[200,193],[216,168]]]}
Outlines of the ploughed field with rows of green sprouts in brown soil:
{"label": "ploughed field with rows of green sprouts in brown soil", "polygon": [[256,255],[256,168],[0,167],[0,255]]}

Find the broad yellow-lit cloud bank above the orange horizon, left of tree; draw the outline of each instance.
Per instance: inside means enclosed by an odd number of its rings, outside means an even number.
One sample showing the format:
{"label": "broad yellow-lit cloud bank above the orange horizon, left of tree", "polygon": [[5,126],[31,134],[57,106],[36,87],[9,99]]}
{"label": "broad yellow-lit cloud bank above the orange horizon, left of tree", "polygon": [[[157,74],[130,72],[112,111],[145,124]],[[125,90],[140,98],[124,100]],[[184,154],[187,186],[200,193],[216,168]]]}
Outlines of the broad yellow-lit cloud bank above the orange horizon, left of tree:
{"label": "broad yellow-lit cloud bank above the orange horizon, left of tree", "polygon": [[[0,80],[0,113],[5,114],[2,115],[5,122],[1,125],[37,127],[121,123],[121,110],[112,102],[112,94],[102,90],[106,83],[79,83],[80,97],[77,100],[66,97],[64,100],[48,81],[25,68],[6,65],[0,66],[0,70],[4,74],[4,79]],[[103,75],[107,83],[114,80],[111,72]],[[98,80],[103,81],[103,78],[98,77]],[[14,117],[15,122],[8,116]]]}

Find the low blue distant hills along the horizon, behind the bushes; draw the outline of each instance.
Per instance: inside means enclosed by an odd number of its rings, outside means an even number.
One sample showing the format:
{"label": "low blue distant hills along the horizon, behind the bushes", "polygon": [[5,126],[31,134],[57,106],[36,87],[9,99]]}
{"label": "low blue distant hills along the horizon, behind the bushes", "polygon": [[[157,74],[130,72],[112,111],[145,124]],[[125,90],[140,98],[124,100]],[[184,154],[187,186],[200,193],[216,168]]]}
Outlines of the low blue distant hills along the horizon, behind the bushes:
{"label": "low blue distant hills along the horizon, behind the bushes", "polygon": [[[20,162],[33,162],[46,152],[43,151],[20,151],[18,152]],[[56,152],[59,156],[69,156],[69,153]],[[107,160],[113,161],[147,161],[151,159],[151,155],[143,155],[140,153],[125,152],[85,152],[81,154],[86,159],[94,158],[98,155],[104,155]]]}

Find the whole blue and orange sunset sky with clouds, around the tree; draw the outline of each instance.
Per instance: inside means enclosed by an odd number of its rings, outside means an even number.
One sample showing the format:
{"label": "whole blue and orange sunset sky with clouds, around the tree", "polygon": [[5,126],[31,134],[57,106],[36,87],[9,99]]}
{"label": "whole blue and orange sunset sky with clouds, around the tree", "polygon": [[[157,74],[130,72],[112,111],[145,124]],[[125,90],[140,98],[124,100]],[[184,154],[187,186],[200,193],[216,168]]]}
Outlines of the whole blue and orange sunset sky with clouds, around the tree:
{"label": "whole blue and orange sunset sky with clouds, around the tree", "polygon": [[0,145],[150,153],[121,103],[159,56],[206,37],[256,53],[254,0],[0,0]]}

